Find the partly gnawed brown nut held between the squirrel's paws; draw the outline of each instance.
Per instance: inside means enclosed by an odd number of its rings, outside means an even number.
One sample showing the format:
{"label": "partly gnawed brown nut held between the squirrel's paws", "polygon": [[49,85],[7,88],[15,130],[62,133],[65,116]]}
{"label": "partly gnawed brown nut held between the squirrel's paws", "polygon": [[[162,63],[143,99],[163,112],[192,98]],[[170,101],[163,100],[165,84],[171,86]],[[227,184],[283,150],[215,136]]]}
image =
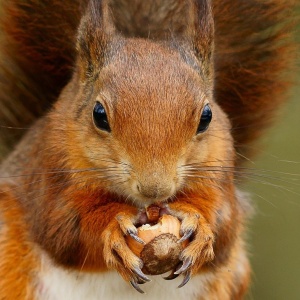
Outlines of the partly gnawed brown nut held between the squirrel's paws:
{"label": "partly gnawed brown nut held between the squirrel's paws", "polygon": [[179,220],[171,215],[163,215],[157,224],[138,228],[138,236],[145,241],[145,245],[130,236],[126,237],[128,247],[142,259],[142,271],[145,274],[163,274],[173,270],[180,262],[179,255],[188,241],[178,243],[179,231]]}

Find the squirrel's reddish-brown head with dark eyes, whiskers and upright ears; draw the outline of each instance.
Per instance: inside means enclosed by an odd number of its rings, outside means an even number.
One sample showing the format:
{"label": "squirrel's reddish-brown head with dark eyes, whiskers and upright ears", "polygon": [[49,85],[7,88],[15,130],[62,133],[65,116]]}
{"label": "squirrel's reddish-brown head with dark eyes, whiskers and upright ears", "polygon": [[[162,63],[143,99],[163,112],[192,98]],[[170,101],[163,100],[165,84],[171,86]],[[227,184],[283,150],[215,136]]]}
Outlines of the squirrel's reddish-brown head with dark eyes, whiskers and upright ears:
{"label": "squirrel's reddish-brown head with dark eyes, whiskers and upright ears", "polygon": [[233,159],[230,125],[213,99],[208,1],[197,2],[184,38],[174,29],[153,39],[122,36],[108,3],[91,3],[76,71],[52,113],[54,123],[66,119],[66,164],[137,206],[205,185],[205,168]]}

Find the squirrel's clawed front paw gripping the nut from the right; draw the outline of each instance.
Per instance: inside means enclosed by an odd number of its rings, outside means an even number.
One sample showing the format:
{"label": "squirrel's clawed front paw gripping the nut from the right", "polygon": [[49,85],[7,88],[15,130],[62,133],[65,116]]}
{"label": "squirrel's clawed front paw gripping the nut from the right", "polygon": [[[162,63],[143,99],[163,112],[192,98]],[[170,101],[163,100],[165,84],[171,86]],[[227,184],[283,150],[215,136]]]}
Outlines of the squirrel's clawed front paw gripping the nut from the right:
{"label": "squirrel's clawed front paw gripping the nut from the right", "polygon": [[214,234],[205,218],[194,208],[188,205],[170,204],[170,212],[181,220],[181,239],[183,242],[191,239],[189,245],[180,255],[181,263],[165,279],[171,280],[179,275],[184,279],[178,287],[183,287],[204,263],[214,259]]}

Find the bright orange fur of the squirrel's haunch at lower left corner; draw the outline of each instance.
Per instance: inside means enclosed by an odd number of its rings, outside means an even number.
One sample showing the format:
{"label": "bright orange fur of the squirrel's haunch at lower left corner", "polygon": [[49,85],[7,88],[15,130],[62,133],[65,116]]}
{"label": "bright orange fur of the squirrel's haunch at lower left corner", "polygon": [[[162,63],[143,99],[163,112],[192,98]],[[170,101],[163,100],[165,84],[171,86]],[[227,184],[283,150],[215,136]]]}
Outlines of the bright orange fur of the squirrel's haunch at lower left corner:
{"label": "bright orange fur of the squirrel's haunch at lower left corner", "polygon": [[0,201],[0,299],[30,300],[37,287],[36,247],[28,239],[24,212],[10,193],[4,191],[1,190]]}

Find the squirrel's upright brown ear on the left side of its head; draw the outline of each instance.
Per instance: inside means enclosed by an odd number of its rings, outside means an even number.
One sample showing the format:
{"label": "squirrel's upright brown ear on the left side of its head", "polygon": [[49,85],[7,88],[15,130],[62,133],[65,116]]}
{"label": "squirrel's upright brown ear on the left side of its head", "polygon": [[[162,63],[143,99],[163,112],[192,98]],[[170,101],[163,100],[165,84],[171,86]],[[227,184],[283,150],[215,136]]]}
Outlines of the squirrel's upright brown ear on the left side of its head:
{"label": "squirrel's upright brown ear on the left side of its head", "polygon": [[78,29],[77,50],[87,75],[93,74],[95,66],[103,65],[105,50],[116,32],[109,2],[89,1]]}

